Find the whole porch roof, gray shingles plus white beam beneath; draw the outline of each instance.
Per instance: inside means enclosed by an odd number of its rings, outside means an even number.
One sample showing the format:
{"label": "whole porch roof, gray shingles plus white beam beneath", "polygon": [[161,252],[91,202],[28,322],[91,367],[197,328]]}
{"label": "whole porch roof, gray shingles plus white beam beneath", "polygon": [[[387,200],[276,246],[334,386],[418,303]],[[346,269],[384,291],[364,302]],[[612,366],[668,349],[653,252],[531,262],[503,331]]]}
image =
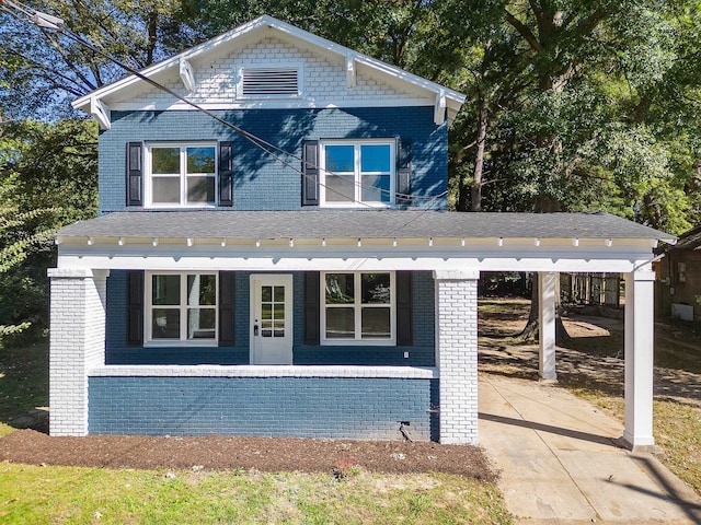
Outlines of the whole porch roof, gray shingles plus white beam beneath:
{"label": "whole porch roof, gray shingles plus white beam beneath", "polygon": [[630,272],[675,237],[609,214],[119,212],[64,228],[59,267]]}

